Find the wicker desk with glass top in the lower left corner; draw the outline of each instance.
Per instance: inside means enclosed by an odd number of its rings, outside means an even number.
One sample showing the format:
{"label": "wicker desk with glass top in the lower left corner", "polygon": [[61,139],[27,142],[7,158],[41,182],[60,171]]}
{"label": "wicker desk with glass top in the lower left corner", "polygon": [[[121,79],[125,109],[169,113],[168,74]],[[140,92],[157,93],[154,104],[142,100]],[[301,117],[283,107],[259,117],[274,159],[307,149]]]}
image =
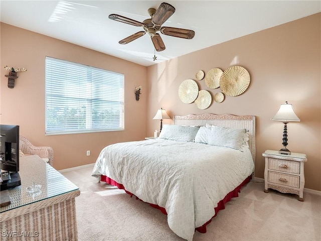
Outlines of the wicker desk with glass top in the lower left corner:
{"label": "wicker desk with glass top in the lower left corner", "polygon": [[[79,188],[38,156],[20,157],[19,164],[21,186],[8,189],[11,204],[0,208],[1,239],[78,240]],[[41,187],[30,193],[33,184]]]}

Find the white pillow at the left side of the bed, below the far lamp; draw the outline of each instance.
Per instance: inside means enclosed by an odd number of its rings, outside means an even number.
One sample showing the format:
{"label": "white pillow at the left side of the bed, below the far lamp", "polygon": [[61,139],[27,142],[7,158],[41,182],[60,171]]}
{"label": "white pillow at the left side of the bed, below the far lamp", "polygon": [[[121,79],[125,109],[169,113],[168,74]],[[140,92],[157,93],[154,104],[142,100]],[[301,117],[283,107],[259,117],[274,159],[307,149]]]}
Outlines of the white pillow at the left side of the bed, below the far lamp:
{"label": "white pillow at the left side of the bed, below the far lamp", "polygon": [[158,138],[173,141],[193,142],[200,128],[178,125],[163,125],[162,132]]}

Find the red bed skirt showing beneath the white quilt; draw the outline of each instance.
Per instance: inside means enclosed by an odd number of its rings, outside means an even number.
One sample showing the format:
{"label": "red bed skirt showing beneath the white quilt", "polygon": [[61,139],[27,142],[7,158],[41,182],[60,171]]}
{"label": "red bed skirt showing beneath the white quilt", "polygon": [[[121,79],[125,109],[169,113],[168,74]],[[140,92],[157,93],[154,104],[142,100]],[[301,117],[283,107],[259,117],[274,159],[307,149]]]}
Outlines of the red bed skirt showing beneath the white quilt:
{"label": "red bed skirt showing beneath the white quilt", "polygon": [[[239,196],[239,192],[241,192],[241,188],[248,183],[252,178],[252,175],[248,176],[238,187],[236,187],[233,191],[229,192],[221,201],[218,202],[217,207],[214,208],[215,210],[215,215],[213,217],[215,217],[217,215],[217,213],[219,212],[219,210],[225,209],[225,203],[227,203],[228,201],[230,201],[233,197],[238,197]],[[102,182],[106,182],[110,185],[116,186],[119,189],[123,189],[126,193],[128,193],[130,195],[130,197],[132,197],[132,193],[128,192],[124,186],[122,184],[117,183],[116,181],[112,180],[111,178],[101,175],[100,181]],[[139,199],[138,197],[136,197],[136,199]],[[140,200],[140,199],[139,199]],[[164,214],[167,215],[166,209],[164,207],[160,207],[156,204],[151,204],[148,203],[150,206],[157,208],[159,210],[161,210]],[[212,217],[212,218],[213,218]],[[206,225],[209,224],[212,221],[212,218],[210,220],[208,220],[206,223],[204,223],[202,226],[195,228],[195,230],[201,232],[201,233],[205,233],[206,232]]]}

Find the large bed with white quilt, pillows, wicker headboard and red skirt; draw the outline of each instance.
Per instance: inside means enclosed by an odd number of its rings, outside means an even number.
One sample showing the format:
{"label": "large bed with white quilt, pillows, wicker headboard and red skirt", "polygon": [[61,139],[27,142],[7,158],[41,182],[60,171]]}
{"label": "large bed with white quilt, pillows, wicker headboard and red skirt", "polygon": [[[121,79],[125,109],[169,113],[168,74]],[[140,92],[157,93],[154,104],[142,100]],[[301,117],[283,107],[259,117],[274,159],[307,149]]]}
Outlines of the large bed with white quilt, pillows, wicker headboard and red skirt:
{"label": "large bed with white quilt, pillows, wicker headboard and red skirt", "polygon": [[193,240],[254,175],[255,116],[174,116],[158,139],[105,147],[92,176],[168,215],[169,227]]}

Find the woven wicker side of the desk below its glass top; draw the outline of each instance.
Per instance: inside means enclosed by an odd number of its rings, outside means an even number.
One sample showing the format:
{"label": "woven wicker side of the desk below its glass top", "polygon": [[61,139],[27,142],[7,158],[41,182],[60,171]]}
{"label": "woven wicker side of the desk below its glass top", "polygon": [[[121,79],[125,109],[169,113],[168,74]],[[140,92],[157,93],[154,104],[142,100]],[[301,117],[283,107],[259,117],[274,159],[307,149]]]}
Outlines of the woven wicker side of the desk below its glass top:
{"label": "woven wicker side of the desk below its glass top", "polygon": [[75,196],[79,194],[76,190],[2,213],[0,239],[78,240]]}

